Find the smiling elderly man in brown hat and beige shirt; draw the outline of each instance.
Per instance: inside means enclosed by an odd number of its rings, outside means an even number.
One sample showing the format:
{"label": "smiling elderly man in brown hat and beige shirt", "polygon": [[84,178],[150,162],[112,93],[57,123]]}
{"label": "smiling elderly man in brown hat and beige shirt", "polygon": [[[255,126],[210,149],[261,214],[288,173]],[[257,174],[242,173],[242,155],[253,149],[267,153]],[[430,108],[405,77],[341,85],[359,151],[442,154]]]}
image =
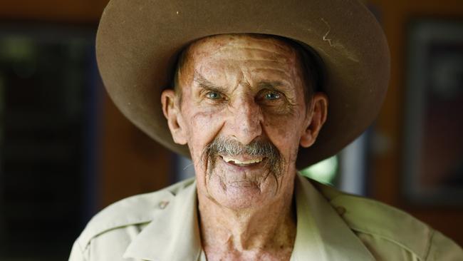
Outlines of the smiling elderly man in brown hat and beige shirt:
{"label": "smiling elderly man in brown hat and beige shirt", "polygon": [[70,260],[463,260],[410,215],[297,174],[383,100],[387,44],[357,1],[113,0],[97,51],[116,105],[196,179],[106,208]]}

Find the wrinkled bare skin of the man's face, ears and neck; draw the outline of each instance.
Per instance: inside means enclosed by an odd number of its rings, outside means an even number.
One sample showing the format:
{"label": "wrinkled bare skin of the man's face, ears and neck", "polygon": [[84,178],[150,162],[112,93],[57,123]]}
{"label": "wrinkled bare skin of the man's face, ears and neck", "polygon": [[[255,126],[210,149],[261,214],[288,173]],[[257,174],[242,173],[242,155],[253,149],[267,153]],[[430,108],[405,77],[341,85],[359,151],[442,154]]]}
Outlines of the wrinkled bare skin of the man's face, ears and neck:
{"label": "wrinkled bare skin of the man's face, ears and neck", "polygon": [[[229,232],[222,227],[202,232],[221,235],[229,253],[238,251],[219,257],[210,247],[208,257],[235,259],[256,246],[260,254],[251,251],[246,257],[271,259],[278,252],[266,249],[278,245],[286,250],[278,258],[286,259],[295,235],[288,231],[295,230],[291,200],[298,146],[315,142],[326,120],[326,96],[315,93],[306,104],[296,53],[276,39],[221,35],[199,40],[179,73],[182,98],[164,91],[163,111],[175,142],[189,146],[202,222],[209,218],[229,227]],[[272,171],[268,158],[245,153],[208,158],[204,150],[217,138],[242,146],[270,143],[281,164]],[[272,240],[276,231],[283,238],[274,238],[275,245],[262,242],[263,248],[250,239],[253,227],[260,227],[261,241]]]}

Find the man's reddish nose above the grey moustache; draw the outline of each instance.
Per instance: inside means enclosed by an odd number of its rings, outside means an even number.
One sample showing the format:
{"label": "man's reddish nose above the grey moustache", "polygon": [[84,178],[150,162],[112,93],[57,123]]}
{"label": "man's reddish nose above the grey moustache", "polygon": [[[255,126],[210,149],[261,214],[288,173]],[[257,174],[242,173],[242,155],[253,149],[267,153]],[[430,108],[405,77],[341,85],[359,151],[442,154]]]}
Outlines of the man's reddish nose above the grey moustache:
{"label": "man's reddish nose above the grey moustache", "polygon": [[254,99],[236,101],[231,106],[229,121],[227,122],[229,135],[241,144],[249,144],[254,138],[262,134],[262,119],[261,108]]}

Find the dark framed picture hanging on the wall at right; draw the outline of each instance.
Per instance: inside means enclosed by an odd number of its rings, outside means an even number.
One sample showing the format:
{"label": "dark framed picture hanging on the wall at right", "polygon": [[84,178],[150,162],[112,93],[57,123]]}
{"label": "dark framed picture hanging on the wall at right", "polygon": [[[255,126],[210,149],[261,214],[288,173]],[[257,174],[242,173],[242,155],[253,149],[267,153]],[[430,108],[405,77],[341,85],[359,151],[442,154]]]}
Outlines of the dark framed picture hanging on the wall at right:
{"label": "dark framed picture hanging on the wall at right", "polygon": [[407,33],[402,191],[463,206],[463,21],[415,20]]}

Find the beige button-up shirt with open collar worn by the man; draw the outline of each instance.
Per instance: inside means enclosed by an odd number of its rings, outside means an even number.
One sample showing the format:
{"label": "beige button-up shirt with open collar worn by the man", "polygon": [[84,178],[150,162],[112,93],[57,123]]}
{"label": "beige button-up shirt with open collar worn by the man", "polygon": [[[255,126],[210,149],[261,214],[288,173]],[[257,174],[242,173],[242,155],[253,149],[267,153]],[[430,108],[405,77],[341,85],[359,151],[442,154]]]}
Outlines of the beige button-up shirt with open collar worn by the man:
{"label": "beige button-up shirt with open collar worn by the man", "polygon": [[[407,213],[298,175],[291,260],[463,260],[452,240]],[[196,183],[182,181],[110,205],[90,220],[70,261],[206,260]]]}

